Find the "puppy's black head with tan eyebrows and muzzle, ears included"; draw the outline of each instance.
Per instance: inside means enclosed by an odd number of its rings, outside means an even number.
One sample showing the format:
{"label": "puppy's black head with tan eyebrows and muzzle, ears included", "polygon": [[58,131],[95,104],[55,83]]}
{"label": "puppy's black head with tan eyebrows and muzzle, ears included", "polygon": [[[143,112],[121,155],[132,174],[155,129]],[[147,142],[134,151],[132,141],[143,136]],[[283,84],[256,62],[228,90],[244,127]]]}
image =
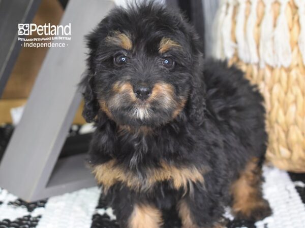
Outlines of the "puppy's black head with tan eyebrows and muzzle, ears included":
{"label": "puppy's black head with tan eyebrows and muzzle, ears included", "polygon": [[179,14],[153,3],[116,8],[87,36],[83,116],[160,126],[182,115],[200,123],[200,42]]}

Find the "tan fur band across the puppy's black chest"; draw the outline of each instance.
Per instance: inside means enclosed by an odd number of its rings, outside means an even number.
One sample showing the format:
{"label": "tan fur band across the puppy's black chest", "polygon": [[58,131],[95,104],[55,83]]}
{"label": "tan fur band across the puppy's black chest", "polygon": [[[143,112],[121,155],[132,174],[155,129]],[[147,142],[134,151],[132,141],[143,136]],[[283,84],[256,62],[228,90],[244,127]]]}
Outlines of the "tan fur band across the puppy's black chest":
{"label": "tan fur band across the puppy's black chest", "polygon": [[158,183],[167,181],[173,189],[187,191],[194,183],[203,184],[204,167],[184,166],[177,167],[166,162],[160,162],[160,166],[147,168],[138,173],[128,170],[118,164],[116,160],[110,160],[94,167],[94,174],[99,184],[107,190],[116,183],[121,183],[136,192],[153,191]]}

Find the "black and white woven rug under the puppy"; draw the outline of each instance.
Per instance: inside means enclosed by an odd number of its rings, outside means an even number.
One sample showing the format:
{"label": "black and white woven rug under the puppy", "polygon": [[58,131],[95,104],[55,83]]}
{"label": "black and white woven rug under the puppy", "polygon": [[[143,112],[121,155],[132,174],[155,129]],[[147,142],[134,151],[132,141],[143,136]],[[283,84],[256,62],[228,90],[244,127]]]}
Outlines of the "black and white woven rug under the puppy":
{"label": "black and white woven rug under the puppy", "polygon": [[[253,223],[235,220],[227,209],[228,228],[304,228],[305,174],[264,167],[263,192],[273,215]],[[98,187],[26,203],[0,188],[0,228],[118,228]],[[165,214],[164,228],[179,228],[175,211]],[[145,227],[143,227],[145,228]]]}

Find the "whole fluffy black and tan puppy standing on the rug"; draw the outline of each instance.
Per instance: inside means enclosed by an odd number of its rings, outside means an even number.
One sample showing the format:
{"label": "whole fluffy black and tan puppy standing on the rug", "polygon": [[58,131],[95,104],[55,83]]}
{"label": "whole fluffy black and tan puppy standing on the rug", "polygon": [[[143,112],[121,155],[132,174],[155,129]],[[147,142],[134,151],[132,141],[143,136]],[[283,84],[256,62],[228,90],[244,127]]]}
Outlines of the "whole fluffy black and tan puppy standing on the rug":
{"label": "whole fluffy black and tan puppy standing on the rug", "polygon": [[262,96],[235,67],[203,60],[179,14],[153,3],[116,8],[88,35],[83,116],[89,163],[120,227],[221,227],[271,210],[262,198]]}

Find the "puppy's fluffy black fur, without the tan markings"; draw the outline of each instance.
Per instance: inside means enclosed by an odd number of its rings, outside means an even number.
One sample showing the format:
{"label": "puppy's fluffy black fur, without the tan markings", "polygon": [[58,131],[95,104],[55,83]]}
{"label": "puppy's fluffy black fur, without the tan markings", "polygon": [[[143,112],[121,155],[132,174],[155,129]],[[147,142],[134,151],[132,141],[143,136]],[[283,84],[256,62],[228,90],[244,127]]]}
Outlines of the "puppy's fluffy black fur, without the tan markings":
{"label": "puppy's fluffy black fur, without the tan markings", "polygon": [[[132,49],[109,45],[106,37],[112,37],[114,32],[128,34]],[[160,54],[164,37],[178,43],[181,49]],[[116,166],[132,172],[139,184],[144,183],[149,170],[160,168],[161,162],[177,169],[206,170],[202,173],[204,183],[189,182],[187,194],[185,189],[174,188],[171,180],[157,181],[146,191],[136,191],[116,181],[110,186],[107,199],[121,227],[131,226],[129,219],[136,204],[163,210],[181,199],[187,202],[196,227],[217,224],[224,206],[231,203],[232,183],[252,158],[262,162],[265,155],[265,112],[257,88],[236,67],[204,60],[202,41],[193,27],[179,13],[157,4],[115,8],[87,40],[88,69],[80,84],[85,100],[83,116],[97,126],[89,163],[97,167],[115,159]],[[126,55],[128,63],[116,65],[113,59],[117,53]],[[174,68],[160,64],[164,56],[175,61]],[[173,88],[171,99],[182,97],[186,102],[174,116],[175,107],[155,100],[150,104],[151,115],[137,118],[131,115],[137,101],[130,97],[119,97],[116,106],[107,103],[117,96],[113,92],[116,82],[132,86],[145,82],[151,87],[163,82]],[[105,103],[104,108],[101,102]],[[143,126],[149,130],[141,131]],[[269,211],[262,217],[268,214]]]}

